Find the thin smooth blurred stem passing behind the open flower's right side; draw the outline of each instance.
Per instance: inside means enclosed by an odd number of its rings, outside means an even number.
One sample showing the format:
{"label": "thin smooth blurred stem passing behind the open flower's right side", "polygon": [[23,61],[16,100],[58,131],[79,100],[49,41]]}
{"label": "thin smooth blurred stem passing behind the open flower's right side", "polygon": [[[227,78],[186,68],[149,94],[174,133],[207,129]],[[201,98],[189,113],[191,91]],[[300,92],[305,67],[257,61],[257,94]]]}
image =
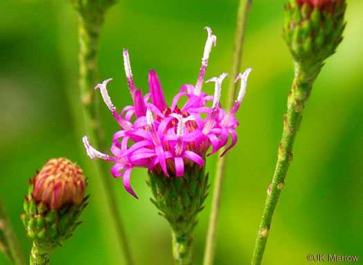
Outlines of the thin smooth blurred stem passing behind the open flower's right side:
{"label": "thin smooth blurred stem passing behind the open flower's right side", "polygon": [[[252,0],[240,0],[240,5],[238,7],[236,36],[234,40],[233,60],[232,60],[232,69],[231,69],[231,77],[233,78],[236,77],[240,71],[247,17],[249,14],[249,10],[251,10],[251,5],[252,5]],[[236,91],[237,91],[237,84],[235,84],[233,81],[230,82],[227,93],[226,109],[231,109],[231,107],[233,106],[233,101],[236,98]],[[209,217],[209,227],[206,236],[206,248],[204,252],[204,261],[203,261],[204,265],[213,264],[214,253],[215,253],[215,238],[217,235],[218,216],[220,212],[220,199],[222,196],[225,167],[227,163],[227,154],[225,154],[222,157],[220,156],[221,154],[222,150],[218,152],[218,161],[215,172],[215,183],[213,188],[211,215]]]}

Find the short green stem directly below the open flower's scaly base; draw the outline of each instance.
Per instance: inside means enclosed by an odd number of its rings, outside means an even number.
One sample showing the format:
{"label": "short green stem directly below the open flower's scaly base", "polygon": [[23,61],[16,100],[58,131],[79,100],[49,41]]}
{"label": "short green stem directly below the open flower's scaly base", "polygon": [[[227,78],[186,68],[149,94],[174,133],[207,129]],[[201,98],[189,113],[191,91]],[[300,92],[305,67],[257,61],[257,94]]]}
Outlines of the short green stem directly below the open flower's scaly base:
{"label": "short green stem directly below the open flower's scaly base", "polygon": [[193,230],[189,232],[172,230],[172,255],[176,265],[193,264]]}

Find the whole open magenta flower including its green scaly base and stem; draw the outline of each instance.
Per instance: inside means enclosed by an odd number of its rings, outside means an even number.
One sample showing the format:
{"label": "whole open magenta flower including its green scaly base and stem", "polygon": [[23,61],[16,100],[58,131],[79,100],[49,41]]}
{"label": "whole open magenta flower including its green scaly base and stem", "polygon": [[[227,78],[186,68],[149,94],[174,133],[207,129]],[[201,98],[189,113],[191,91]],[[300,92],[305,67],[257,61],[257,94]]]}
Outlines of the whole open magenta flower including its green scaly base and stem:
{"label": "whole open magenta flower including its green scaly base and stem", "polygon": [[[202,67],[195,86],[182,85],[171,104],[167,104],[161,89],[159,77],[154,70],[149,72],[150,93],[143,95],[136,89],[132,78],[129,54],[123,51],[127,84],[133,106],[127,106],[118,113],[107,93],[105,80],[98,84],[103,100],[114,116],[121,130],[114,134],[111,152],[108,156],[91,147],[87,136],[83,138],[87,154],[91,158],[101,158],[115,165],[112,174],[123,177],[123,185],[134,197],[130,185],[130,174],[134,167],[148,168],[148,185],[154,199],[152,203],[159,209],[172,228],[172,248],[176,264],[192,264],[191,245],[197,213],[203,208],[207,196],[208,174],[204,173],[206,156],[218,152],[231,144],[222,155],[237,142],[235,114],[240,107],[251,69],[236,77],[240,80],[240,92],[230,111],[222,109],[220,92],[227,73],[213,77],[206,82],[214,82],[214,95],[202,91],[209,54],[216,37],[208,31],[208,38],[202,57]],[[184,98],[185,104],[180,104]],[[137,198],[137,197],[136,197]]]}

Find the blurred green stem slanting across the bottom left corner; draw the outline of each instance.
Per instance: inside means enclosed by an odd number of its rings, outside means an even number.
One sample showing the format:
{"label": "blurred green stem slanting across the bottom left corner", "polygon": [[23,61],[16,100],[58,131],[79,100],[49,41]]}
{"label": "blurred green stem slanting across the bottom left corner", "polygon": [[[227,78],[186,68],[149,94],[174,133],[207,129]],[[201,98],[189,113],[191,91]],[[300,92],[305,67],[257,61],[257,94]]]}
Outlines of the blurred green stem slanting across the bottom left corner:
{"label": "blurred green stem slanting across the bottom left corner", "polygon": [[12,229],[10,218],[6,214],[5,206],[0,199],[0,251],[8,256],[14,265],[25,265],[19,241]]}

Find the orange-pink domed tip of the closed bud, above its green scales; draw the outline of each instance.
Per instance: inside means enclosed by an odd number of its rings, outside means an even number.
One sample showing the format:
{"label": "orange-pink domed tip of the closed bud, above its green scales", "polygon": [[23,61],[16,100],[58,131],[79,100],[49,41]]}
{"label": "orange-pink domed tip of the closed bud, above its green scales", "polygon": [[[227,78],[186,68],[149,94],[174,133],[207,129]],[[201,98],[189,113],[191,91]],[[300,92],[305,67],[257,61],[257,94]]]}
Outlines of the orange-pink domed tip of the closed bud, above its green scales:
{"label": "orange-pink domed tip of the closed bud, above its green scales", "polygon": [[80,205],[87,183],[78,165],[66,158],[57,158],[46,162],[34,177],[33,185],[33,198],[57,209],[67,203]]}

